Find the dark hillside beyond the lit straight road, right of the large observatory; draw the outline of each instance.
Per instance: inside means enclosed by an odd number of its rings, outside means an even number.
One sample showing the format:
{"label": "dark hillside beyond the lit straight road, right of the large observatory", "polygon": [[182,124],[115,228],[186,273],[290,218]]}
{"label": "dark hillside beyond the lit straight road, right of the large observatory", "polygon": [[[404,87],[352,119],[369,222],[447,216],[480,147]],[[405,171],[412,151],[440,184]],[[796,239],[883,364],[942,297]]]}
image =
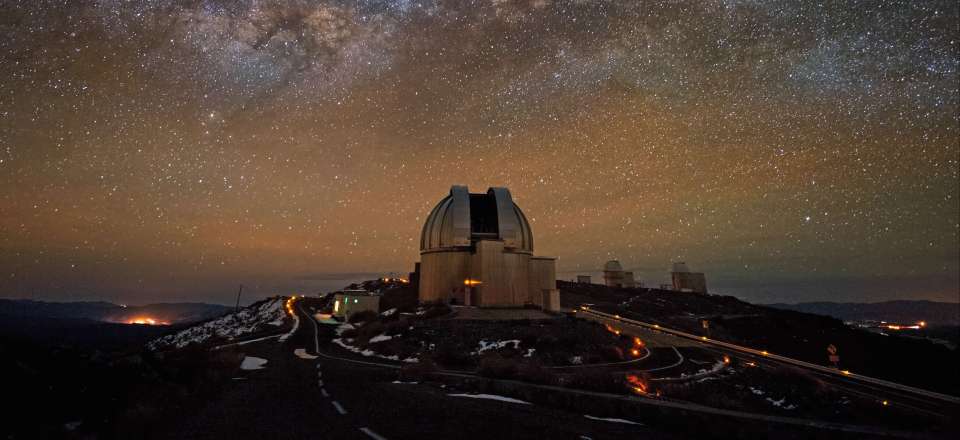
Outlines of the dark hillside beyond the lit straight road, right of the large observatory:
{"label": "dark hillside beyond the lit straight road, right of the large observatory", "polygon": [[558,281],[557,286],[564,307],[594,304],[594,308],[608,313],[819,365],[830,365],[827,346],[833,344],[839,348],[841,368],[960,394],[955,375],[960,369],[958,352],[931,341],[868,332],[837,318],[751,304],[732,296],[564,281]]}

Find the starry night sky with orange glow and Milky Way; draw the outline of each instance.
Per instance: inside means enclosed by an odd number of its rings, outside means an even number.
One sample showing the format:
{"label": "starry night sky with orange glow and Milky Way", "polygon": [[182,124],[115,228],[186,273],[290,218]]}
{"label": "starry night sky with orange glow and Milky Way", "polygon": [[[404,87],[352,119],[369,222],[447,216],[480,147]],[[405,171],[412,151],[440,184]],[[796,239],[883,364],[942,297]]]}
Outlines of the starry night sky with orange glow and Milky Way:
{"label": "starry night sky with orange glow and Milky Way", "polygon": [[0,0],[0,297],[231,303],[511,189],[558,276],[957,301],[955,1]]}

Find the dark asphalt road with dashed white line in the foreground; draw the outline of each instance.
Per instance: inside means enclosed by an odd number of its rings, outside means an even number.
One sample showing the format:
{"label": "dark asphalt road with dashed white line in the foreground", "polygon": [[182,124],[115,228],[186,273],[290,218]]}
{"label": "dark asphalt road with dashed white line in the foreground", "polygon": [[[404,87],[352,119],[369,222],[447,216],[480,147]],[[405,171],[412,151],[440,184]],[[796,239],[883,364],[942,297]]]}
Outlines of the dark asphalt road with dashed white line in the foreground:
{"label": "dark asphalt road with dashed white line in the foreground", "polygon": [[[495,400],[453,397],[436,385],[394,383],[395,369],[364,366],[315,354],[350,357],[330,344],[329,326],[301,325],[284,342],[238,347],[268,360],[241,372],[213,401],[185,414],[163,438],[177,439],[625,439],[674,438],[640,425],[591,420],[584,414]],[[316,333],[315,333],[316,332]],[[314,342],[317,338],[317,342]],[[606,414],[591,414],[604,417]],[[643,422],[642,420],[636,420]]]}

